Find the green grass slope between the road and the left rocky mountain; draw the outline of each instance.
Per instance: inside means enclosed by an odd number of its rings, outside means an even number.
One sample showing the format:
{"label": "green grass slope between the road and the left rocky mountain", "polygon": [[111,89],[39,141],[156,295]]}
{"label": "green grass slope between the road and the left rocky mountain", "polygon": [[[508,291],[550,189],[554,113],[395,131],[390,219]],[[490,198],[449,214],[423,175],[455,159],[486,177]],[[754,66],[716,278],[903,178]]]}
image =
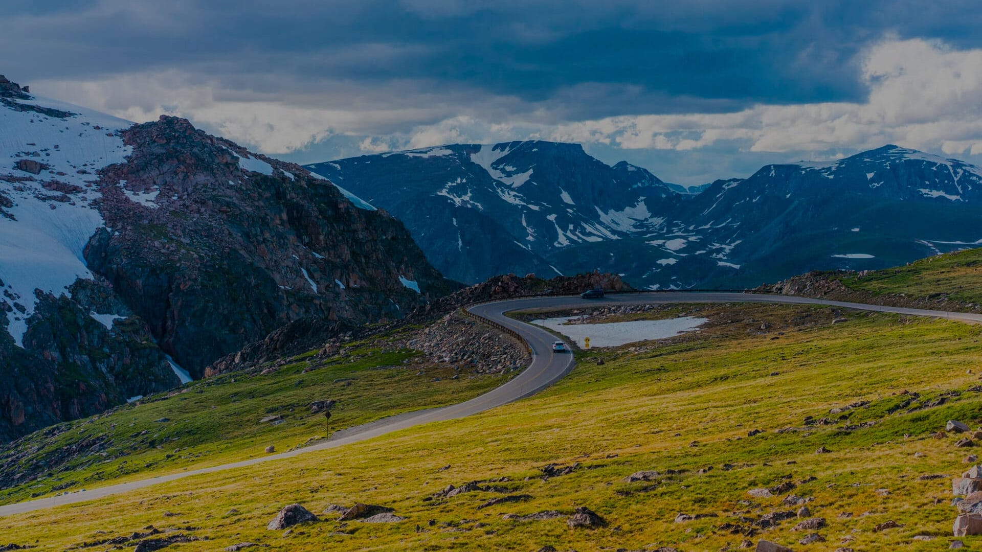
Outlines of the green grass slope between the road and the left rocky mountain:
{"label": "green grass slope between the road and the left rocky mountain", "polygon": [[[456,404],[507,381],[501,375],[471,378],[466,371],[453,379],[453,364],[418,363],[418,352],[384,347],[406,331],[355,342],[343,357],[318,359],[312,351],[285,359],[270,373],[196,381],[109,414],[37,431],[0,451],[0,464],[9,454],[26,452],[16,469],[29,472],[54,464],[63,450],[86,452],[36,480],[0,490],[0,504],[245,460],[265,455],[268,445],[283,452],[327,434],[324,416],[311,412],[313,401],[337,401],[330,419],[335,431]],[[277,415],[282,422],[262,421]]]}

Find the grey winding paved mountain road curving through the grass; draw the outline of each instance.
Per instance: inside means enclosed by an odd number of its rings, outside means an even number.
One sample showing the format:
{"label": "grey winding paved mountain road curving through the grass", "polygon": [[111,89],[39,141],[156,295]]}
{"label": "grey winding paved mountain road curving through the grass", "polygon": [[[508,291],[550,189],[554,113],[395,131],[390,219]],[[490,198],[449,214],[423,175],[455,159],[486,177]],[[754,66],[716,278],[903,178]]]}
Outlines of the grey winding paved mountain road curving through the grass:
{"label": "grey winding paved mountain road curving through the grass", "polygon": [[966,312],[948,312],[942,310],[926,310],[921,308],[903,308],[897,306],[881,306],[877,304],[858,304],[844,303],[837,301],[824,301],[817,299],[793,297],[793,296],[772,296],[755,295],[741,293],[716,293],[716,292],[651,292],[639,294],[611,295],[602,300],[581,300],[575,297],[535,297],[499,301],[494,303],[477,304],[467,307],[467,310],[479,318],[489,320],[497,325],[504,326],[516,332],[528,344],[532,353],[532,361],[518,376],[507,383],[497,387],[483,395],[464,401],[457,405],[417,411],[414,413],[400,414],[386,417],[371,423],[352,427],[343,431],[338,431],[328,441],[323,443],[290,451],[282,454],[262,456],[242,462],[223,464],[203,469],[190,469],[157,477],[150,477],[138,481],[116,483],[104,487],[88,489],[86,491],[73,492],[62,496],[28,500],[16,504],[0,506],[0,517],[11,516],[14,514],[24,514],[44,508],[62,506],[65,504],[75,504],[102,498],[114,494],[125,493],[142,487],[155,485],[166,481],[173,481],[190,475],[213,473],[225,469],[244,468],[264,462],[273,462],[300,456],[314,451],[333,449],[350,443],[364,441],[384,435],[400,429],[406,429],[414,425],[427,423],[430,421],[441,421],[454,419],[484,412],[495,407],[517,401],[523,397],[533,395],[546,387],[549,387],[560,380],[573,369],[573,355],[568,353],[554,353],[552,343],[556,341],[553,334],[548,331],[532,326],[524,322],[509,318],[506,312],[523,310],[529,308],[567,308],[583,306],[601,306],[616,304],[659,304],[659,303],[779,303],[779,304],[824,304],[840,306],[844,308],[854,308],[859,310],[873,310],[879,312],[894,312],[899,314],[910,314],[918,316],[933,316],[937,318],[948,318],[966,322],[982,322],[982,314]]}

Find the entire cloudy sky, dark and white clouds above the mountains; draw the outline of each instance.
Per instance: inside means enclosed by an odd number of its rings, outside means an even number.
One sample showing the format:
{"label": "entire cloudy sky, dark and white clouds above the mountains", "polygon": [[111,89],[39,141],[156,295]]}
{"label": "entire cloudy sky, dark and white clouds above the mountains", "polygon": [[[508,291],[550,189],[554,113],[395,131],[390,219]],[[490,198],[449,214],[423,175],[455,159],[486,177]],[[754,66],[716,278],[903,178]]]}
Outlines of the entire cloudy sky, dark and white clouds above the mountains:
{"label": "entire cloudy sky, dark and white clouds above the mountains", "polygon": [[3,0],[0,74],[298,162],[577,141],[696,185],[898,143],[982,164],[975,0]]}

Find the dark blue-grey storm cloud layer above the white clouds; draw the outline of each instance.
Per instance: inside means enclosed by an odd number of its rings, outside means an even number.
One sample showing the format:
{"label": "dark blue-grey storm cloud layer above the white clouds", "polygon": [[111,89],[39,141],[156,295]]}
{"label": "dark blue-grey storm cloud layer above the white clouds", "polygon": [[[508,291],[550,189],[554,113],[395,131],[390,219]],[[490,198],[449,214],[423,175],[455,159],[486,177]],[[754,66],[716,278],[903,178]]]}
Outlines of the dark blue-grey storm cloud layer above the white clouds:
{"label": "dark blue-grey storm cloud layer above the white clouds", "polygon": [[[42,4],[38,6],[38,4]],[[855,101],[885,33],[982,41],[972,2],[89,0],[0,7],[25,81],[180,70],[256,93],[326,82],[514,96],[563,118]]]}

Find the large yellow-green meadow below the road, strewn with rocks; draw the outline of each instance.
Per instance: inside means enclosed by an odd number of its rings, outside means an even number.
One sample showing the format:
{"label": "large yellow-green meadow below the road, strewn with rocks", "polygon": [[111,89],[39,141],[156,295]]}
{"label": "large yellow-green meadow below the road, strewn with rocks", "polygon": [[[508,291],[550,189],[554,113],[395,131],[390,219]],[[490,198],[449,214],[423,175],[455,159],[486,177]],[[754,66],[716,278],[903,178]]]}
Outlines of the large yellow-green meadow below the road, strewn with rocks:
{"label": "large yellow-green meadow below the road, strewn with rocks", "polygon": [[[936,439],[931,433],[949,418],[976,425],[982,416],[979,394],[965,391],[978,383],[982,366],[980,327],[853,312],[848,321],[832,324],[827,308],[728,308],[734,319],[752,318],[755,324],[828,322],[784,329],[780,336],[708,331],[704,339],[693,335],[663,347],[577,354],[573,373],[548,391],[484,414],[289,461],[3,518],[0,540],[32,544],[37,539],[39,550],[62,550],[153,524],[191,526],[184,532],[208,537],[169,550],[220,550],[243,541],[290,551],[537,550],[546,544],[579,552],[649,545],[719,550],[736,547],[743,537],[714,525],[748,525],[738,517],[755,519],[790,509],[780,506],[780,497],[754,499],[746,491],[776,485],[791,474],[795,481],[816,477],[791,492],[813,498],[809,508],[829,525],[816,531],[827,541],[807,550],[834,550],[844,546],[840,539],[846,535],[855,538],[848,544],[855,550],[947,548],[944,535],[955,518],[950,480],[918,476],[956,475],[965,468],[961,460],[971,449],[955,448],[954,436]],[[597,365],[596,358],[605,363]],[[927,399],[949,390],[962,393],[940,407],[888,414],[907,397],[900,395],[904,390]],[[846,431],[840,423],[776,431],[802,427],[806,415],[835,417],[830,409],[860,400],[870,401],[870,408],[848,411],[848,423],[875,420],[872,427]],[[766,431],[746,436],[756,428]],[[816,454],[821,446],[832,452]],[[915,452],[926,456],[915,458]],[[540,477],[543,465],[573,462],[582,467]],[[723,469],[725,464],[735,468]],[[697,472],[706,467],[713,469]],[[643,491],[648,483],[623,481],[639,469],[687,471]],[[479,504],[500,495],[477,491],[426,500],[450,483],[502,476],[511,480],[494,484],[533,498],[481,510]],[[877,489],[891,494],[880,496]],[[334,515],[289,533],[266,530],[276,512],[294,502],[318,515],[332,503],[379,504],[408,520],[337,524]],[[551,509],[569,514],[575,506],[589,507],[608,525],[573,529],[563,520],[502,518]],[[852,517],[839,518],[843,512]],[[720,517],[676,524],[679,513]],[[888,520],[902,526],[873,531]],[[783,522],[752,540],[793,544],[805,534],[792,532],[794,523]],[[415,531],[416,524],[421,532]],[[917,534],[939,539],[911,540]],[[968,549],[982,545],[978,537],[964,540]]]}

